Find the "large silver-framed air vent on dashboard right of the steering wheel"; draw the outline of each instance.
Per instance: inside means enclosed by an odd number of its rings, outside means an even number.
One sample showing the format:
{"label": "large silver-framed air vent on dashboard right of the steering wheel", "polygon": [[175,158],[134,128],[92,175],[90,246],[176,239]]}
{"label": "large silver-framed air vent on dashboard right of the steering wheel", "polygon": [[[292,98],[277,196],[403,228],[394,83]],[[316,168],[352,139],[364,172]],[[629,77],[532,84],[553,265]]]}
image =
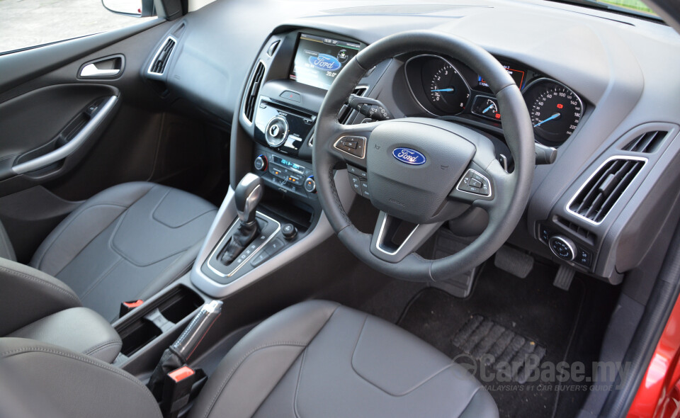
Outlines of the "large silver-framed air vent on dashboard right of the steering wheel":
{"label": "large silver-framed air vent on dashboard right of the steering wheel", "polygon": [[567,205],[574,215],[599,225],[647,159],[611,157],[594,172]]}

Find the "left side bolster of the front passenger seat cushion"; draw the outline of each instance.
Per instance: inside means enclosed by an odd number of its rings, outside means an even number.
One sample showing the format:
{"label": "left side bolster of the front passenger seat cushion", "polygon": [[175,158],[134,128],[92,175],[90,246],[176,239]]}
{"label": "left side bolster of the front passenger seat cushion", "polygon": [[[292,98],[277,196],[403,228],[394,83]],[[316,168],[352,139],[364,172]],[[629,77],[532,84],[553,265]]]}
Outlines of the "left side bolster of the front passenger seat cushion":
{"label": "left side bolster of the front passenger seat cushion", "polygon": [[134,181],[92,196],[47,235],[33,254],[30,266],[56,276],[94,237],[154,186]]}

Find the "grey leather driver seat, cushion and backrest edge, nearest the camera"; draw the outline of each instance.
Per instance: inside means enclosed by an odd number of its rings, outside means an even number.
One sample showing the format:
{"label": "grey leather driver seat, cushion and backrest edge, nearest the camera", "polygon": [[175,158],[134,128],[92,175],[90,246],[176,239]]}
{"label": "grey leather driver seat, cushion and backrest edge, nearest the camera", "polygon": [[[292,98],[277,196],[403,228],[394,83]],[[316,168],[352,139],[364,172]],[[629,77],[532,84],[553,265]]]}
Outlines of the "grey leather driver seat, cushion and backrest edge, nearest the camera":
{"label": "grey leather driver seat, cushion and backrest edge, nearest the camera", "polygon": [[[33,340],[0,339],[0,382],[11,382],[0,387],[3,417],[161,416],[132,375]],[[424,341],[312,300],[273,315],[227,353],[189,414],[222,416],[487,418],[498,410],[472,375]]]}

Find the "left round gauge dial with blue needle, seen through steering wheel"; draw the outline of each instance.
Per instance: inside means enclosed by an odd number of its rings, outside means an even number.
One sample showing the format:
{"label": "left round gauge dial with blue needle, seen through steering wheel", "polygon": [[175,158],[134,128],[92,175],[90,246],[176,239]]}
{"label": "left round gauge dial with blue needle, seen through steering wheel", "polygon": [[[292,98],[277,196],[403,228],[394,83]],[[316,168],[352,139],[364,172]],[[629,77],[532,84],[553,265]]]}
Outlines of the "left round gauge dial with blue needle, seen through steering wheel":
{"label": "left round gauge dial with blue needle, seen through steering wheel", "polygon": [[433,73],[423,79],[424,83],[427,82],[425,87],[429,99],[444,113],[460,113],[470,98],[470,89],[453,65],[444,60],[439,60],[438,64]]}

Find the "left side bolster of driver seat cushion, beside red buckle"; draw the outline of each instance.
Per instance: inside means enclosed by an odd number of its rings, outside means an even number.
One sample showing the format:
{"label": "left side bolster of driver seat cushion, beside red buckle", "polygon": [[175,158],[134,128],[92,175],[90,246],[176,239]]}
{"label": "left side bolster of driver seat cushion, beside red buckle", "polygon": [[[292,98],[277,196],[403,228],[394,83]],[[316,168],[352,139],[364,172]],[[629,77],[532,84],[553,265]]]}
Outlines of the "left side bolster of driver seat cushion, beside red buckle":
{"label": "left side bolster of driver seat cushion, beside red buckle", "polygon": [[210,376],[191,409],[191,418],[225,411],[229,417],[252,417],[338,307],[337,303],[310,300],[288,307],[255,327]]}

